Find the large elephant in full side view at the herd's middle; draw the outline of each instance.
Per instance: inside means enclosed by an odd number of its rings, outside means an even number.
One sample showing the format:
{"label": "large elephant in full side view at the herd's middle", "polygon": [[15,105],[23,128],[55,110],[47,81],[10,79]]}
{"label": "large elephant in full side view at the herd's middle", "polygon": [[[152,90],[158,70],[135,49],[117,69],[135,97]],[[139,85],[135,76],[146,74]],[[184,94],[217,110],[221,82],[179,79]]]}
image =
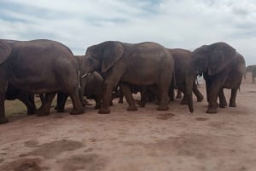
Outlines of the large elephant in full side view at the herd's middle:
{"label": "large elephant in full side view at the herd's middle", "polygon": [[[134,85],[157,84],[160,89],[158,110],[168,110],[168,90],[172,81],[173,59],[166,48],[158,43],[121,43],[108,41],[87,48],[84,71],[101,71],[106,77],[103,86],[102,109],[99,113],[110,113],[109,103],[113,88],[119,82]],[[124,84],[125,85],[125,84]],[[128,111],[137,107],[131,96],[131,88],[123,86]]]}

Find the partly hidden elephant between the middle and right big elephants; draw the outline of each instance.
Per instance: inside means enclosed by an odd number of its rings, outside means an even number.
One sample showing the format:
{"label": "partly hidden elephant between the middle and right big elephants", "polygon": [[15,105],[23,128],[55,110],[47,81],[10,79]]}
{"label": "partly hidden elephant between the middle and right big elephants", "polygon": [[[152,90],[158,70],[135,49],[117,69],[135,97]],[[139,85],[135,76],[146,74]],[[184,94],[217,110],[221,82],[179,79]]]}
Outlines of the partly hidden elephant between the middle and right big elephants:
{"label": "partly hidden elephant between the middle and right big elephants", "polygon": [[[175,71],[175,79],[177,84],[178,92],[181,91],[184,96],[181,104],[188,104],[188,99],[185,93],[186,90],[186,71],[189,66],[189,60],[191,59],[191,51],[183,49],[183,48],[168,48],[169,52],[172,54],[174,60],[174,71]],[[201,92],[198,90],[195,80],[193,81],[193,93],[195,94],[197,101],[201,102],[204,98]],[[174,95],[174,94],[173,94]],[[180,94],[179,94],[180,95]]]}

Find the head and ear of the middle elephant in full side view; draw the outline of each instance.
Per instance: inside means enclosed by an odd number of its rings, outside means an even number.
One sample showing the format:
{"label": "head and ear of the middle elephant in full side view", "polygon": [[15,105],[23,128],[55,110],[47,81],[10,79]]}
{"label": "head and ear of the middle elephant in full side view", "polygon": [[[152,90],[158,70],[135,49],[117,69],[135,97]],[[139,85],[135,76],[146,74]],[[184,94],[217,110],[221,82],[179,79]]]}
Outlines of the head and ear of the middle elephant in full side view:
{"label": "head and ear of the middle elephant in full side view", "polygon": [[108,41],[87,48],[82,74],[92,71],[108,71],[124,53],[121,43]]}

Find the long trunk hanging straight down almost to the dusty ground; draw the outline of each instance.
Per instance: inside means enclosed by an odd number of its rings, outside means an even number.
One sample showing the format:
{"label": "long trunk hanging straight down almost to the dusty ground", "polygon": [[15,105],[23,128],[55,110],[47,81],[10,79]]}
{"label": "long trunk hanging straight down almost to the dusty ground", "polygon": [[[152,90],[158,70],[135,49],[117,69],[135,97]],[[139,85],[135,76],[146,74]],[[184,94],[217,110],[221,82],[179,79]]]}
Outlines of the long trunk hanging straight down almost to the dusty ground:
{"label": "long trunk hanging straight down almost to the dusty ground", "polygon": [[192,72],[188,72],[186,75],[186,94],[188,98],[188,105],[189,105],[189,111],[193,113],[194,107],[193,107],[193,83],[195,81],[195,74]]}

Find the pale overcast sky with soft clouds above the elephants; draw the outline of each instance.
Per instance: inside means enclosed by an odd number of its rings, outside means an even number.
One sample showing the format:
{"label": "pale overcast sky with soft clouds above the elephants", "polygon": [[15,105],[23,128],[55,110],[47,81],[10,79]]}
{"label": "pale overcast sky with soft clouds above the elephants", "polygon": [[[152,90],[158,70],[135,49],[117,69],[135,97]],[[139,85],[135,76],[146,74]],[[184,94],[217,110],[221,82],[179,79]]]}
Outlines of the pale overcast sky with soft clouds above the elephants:
{"label": "pale overcast sky with soft clouds above the elephants", "polygon": [[74,54],[107,40],[193,50],[226,42],[256,64],[256,0],[0,0],[0,38],[47,38]]}

